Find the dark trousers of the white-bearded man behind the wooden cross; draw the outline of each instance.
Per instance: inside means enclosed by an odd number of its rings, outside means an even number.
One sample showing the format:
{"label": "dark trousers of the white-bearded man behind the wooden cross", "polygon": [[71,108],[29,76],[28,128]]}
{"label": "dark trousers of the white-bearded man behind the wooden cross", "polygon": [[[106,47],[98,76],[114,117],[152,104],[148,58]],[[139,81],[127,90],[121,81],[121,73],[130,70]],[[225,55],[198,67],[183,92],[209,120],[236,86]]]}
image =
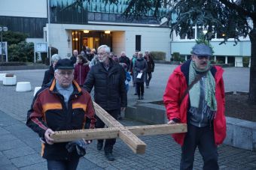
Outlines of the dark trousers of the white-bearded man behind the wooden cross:
{"label": "dark trousers of the white-bearded man behind the wooden cross", "polygon": [[[109,115],[111,115],[113,118],[117,119],[117,116],[120,115],[120,109],[114,109],[114,110],[106,110]],[[105,127],[105,124],[102,120],[100,120],[98,117],[96,121],[96,128],[103,128]],[[103,139],[99,139],[98,142],[104,142]],[[116,142],[116,139],[105,139],[105,145],[104,145],[104,151],[105,153],[112,153],[113,146]]]}

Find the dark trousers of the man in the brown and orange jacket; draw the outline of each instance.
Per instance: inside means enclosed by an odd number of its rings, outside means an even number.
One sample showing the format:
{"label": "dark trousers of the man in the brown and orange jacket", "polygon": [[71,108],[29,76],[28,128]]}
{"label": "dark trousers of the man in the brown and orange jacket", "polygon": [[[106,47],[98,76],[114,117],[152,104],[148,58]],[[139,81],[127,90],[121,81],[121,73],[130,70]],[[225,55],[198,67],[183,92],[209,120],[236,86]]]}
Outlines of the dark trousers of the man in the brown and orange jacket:
{"label": "dark trousers of the man in the brown and orange jacket", "polygon": [[47,160],[48,170],[75,170],[78,167],[79,158],[72,160]]}

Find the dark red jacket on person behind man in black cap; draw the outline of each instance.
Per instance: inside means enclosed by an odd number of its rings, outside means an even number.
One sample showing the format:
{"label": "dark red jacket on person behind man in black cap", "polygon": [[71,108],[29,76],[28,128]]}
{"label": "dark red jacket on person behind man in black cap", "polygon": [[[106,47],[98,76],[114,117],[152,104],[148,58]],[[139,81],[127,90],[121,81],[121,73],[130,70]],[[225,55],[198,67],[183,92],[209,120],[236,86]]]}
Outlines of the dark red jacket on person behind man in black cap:
{"label": "dark red jacket on person behind man in black cap", "polygon": [[84,85],[85,79],[87,79],[87,74],[90,71],[88,65],[78,63],[75,65],[74,79],[78,82],[78,85]]}

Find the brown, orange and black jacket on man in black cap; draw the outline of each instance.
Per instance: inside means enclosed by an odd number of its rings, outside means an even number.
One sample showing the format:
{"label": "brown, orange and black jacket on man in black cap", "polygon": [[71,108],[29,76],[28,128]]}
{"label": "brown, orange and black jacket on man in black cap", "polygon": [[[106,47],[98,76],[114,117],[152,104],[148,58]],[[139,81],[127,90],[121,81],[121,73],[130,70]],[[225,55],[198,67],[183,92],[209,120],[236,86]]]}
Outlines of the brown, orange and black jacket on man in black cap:
{"label": "brown, orange and black jacket on man in black cap", "polygon": [[[64,97],[56,90],[53,79],[35,95],[31,109],[27,114],[26,125],[44,139],[45,131],[50,128],[59,130],[81,130],[86,124],[94,128],[96,118],[90,94],[73,81],[74,91],[69,97],[69,108],[66,108]],[[69,160],[66,142],[42,146],[42,157],[47,160]]]}

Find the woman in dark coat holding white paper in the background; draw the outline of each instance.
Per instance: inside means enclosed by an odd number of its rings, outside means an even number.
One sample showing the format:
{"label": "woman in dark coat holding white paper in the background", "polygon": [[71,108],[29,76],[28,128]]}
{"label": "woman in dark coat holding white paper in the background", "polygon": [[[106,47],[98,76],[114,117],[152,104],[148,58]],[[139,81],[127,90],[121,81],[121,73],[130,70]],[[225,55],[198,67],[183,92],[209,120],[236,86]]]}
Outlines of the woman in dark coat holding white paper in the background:
{"label": "woman in dark coat holding white paper in the background", "polygon": [[[142,52],[139,52],[134,65],[138,100],[144,99],[145,71],[147,70],[147,62],[142,56]],[[138,76],[139,73],[142,73],[142,76]]]}

